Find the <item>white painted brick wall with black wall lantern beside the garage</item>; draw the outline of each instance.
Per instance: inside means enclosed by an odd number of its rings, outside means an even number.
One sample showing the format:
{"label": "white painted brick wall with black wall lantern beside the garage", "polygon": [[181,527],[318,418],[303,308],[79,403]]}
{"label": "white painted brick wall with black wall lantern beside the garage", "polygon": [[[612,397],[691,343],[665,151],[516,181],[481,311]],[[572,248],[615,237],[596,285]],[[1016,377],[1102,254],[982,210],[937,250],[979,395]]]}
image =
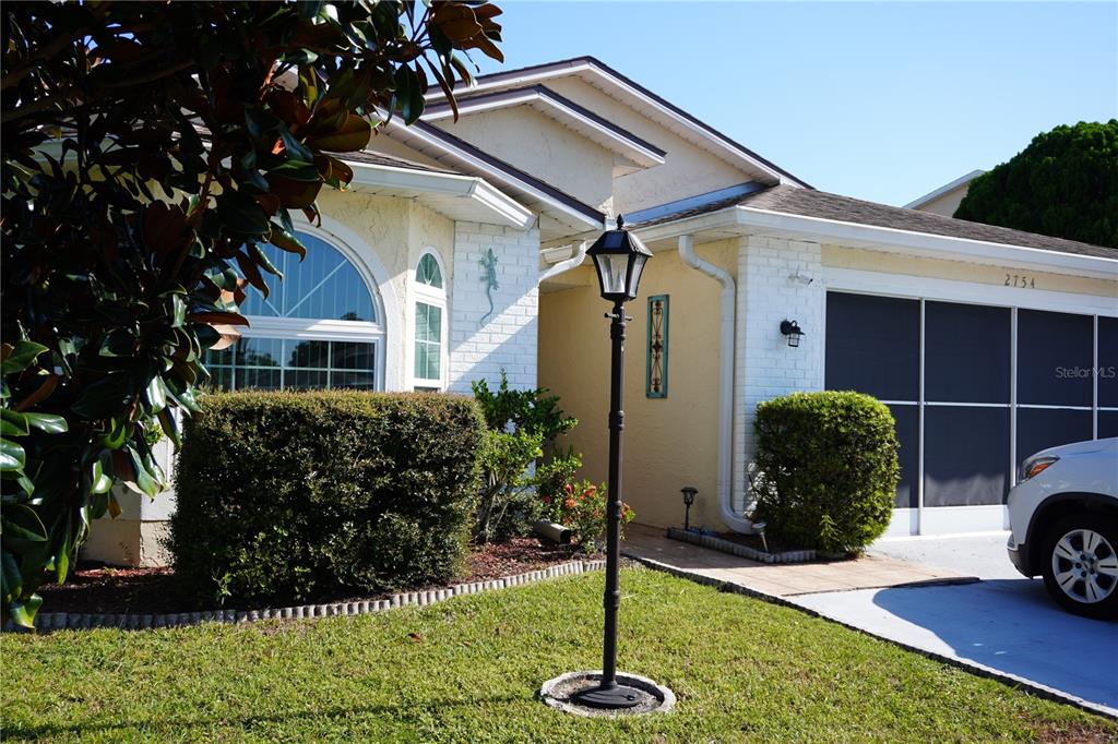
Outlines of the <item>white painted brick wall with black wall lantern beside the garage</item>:
{"label": "white painted brick wall with black wall lantern beside the garage", "polygon": [[[790,278],[796,271],[811,284]],[[733,432],[735,503],[745,500],[745,468],[754,454],[757,403],[796,391],[823,389],[826,289],[816,242],[749,236],[738,251],[737,368],[735,399],[743,416]],[[805,335],[788,346],[781,321],[797,321]]]}

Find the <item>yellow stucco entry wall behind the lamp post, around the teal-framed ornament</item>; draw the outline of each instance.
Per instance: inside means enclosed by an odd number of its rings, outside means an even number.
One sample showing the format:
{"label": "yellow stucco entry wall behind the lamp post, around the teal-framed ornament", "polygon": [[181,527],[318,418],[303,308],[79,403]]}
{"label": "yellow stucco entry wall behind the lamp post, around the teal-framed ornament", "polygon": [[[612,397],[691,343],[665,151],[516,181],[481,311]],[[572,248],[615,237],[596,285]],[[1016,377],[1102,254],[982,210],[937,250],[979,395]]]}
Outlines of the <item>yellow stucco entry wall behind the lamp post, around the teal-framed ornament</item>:
{"label": "yellow stucco entry wall behind the lamp post, around the teal-framed ornament", "polygon": [[[699,247],[703,258],[731,274],[737,246]],[[604,483],[608,458],[608,305],[598,295],[593,268],[576,269],[581,286],[540,295],[540,384],[550,388],[567,413],[579,419],[566,442],[582,452],[582,477]],[[685,267],[675,251],[657,254],[641,279],[641,296],[626,307],[625,441],[623,496],[642,524],[682,524],[680,488],[694,486],[693,524],[721,528],[718,521],[718,359],[720,285]],[[647,298],[669,301],[667,398],[645,397]]]}

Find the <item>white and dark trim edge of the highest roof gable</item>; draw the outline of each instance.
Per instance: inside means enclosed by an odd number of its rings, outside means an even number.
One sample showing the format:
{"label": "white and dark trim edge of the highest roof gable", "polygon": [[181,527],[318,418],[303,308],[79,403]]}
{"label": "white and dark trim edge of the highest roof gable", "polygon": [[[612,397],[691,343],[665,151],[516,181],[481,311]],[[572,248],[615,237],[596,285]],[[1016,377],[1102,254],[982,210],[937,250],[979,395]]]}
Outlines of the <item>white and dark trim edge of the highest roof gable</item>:
{"label": "white and dark trim edge of the highest roof gable", "polygon": [[[577,76],[606,95],[622,101],[661,125],[676,130],[685,140],[730,161],[737,160],[760,171],[768,180],[812,188],[776,163],[762,158],[745,145],[735,142],[709,124],[701,122],[675,104],[662,98],[643,85],[622,75],[603,61],[589,57],[574,57],[544,65],[533,65],[503,70],[476,78],[475,84],[463,89],[465,96],[477,93],[518,88],[542,83],[550,78]],[[432,101],[443,97],[440,90],[427,94]],[[637,104],[637,105],[634,105]]]}

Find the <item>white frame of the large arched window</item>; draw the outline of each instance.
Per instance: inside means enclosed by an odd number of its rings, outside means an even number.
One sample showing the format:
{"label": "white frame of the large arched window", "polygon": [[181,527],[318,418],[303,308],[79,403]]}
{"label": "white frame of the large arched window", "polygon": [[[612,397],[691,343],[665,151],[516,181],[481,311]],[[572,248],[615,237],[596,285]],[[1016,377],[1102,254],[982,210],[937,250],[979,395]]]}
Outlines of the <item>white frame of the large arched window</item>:
{"label": "white frame of the large arched window", "polygon": [[[377,282],[363,269],[360,260],[349,245],[338,239],[326,230],[318,229],[306,222],[296,223],[296,232],[311,235],[328,244],[341,254],[357,271],[372,297],[373,321],[340,321],[331,318],[275,317],[268,315],[247,315],[249,326],[240,328],[245,338],[280,338],[283,341],[350,341],[354,343],[373,344],[373,389],[383,391],[386,388],[386,343],[385,343],[385,303],[381,301]],[[249,289],[249,292],[256,292]],[[281,366],[281,369],[283,369]],[[281,372],[281,380],[283,373]]]}

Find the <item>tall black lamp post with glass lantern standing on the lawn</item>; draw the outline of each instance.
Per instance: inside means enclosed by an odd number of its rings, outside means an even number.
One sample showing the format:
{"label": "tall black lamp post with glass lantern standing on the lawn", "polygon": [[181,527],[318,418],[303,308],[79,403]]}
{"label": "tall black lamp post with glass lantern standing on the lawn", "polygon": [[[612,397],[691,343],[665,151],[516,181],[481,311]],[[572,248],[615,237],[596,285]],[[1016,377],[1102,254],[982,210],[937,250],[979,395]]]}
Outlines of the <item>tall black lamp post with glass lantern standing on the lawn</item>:
{"label": "tall black lamp post with glass lantern standing on the lawn", "polygon": [[605,636],[601,654],[601,683],[575,696],[576,702],[594,708],[618,709],[637,705],[641,693],[632,687],[617,684],[617,610],[622,603],[618,589],[618,565],[620,563],[622,521],[622,429],[625,413],[622,411],[622,393],[625,355],[625,303],[636,297],[641,274],[645,261],[652,258],[641,239],[624,227],[618,216],[617,229],[607,230],[586,251],[594,258],[598,270],[601,297],[614,304],[606,313],[610,318],[609,338],[613,342],[609,379],[609,504],[606,507],[606,593]]}

